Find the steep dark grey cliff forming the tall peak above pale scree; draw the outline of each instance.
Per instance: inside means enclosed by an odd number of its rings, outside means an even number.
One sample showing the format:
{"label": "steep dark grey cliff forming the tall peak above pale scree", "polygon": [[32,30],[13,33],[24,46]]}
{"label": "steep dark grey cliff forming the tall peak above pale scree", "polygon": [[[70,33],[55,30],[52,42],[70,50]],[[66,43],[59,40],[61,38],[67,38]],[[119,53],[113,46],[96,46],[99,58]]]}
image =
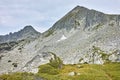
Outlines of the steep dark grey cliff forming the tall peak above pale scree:
{"label": "steep dark grey cliff forming the tall peak above pale scree", "polygon": [[119,24],[118,22],[120,21],[120,15],[108,15],[99,11],[77,6],[58,22],[56,22],[52,29],[85,29],[96,24],[104,25],[112,20]]}

